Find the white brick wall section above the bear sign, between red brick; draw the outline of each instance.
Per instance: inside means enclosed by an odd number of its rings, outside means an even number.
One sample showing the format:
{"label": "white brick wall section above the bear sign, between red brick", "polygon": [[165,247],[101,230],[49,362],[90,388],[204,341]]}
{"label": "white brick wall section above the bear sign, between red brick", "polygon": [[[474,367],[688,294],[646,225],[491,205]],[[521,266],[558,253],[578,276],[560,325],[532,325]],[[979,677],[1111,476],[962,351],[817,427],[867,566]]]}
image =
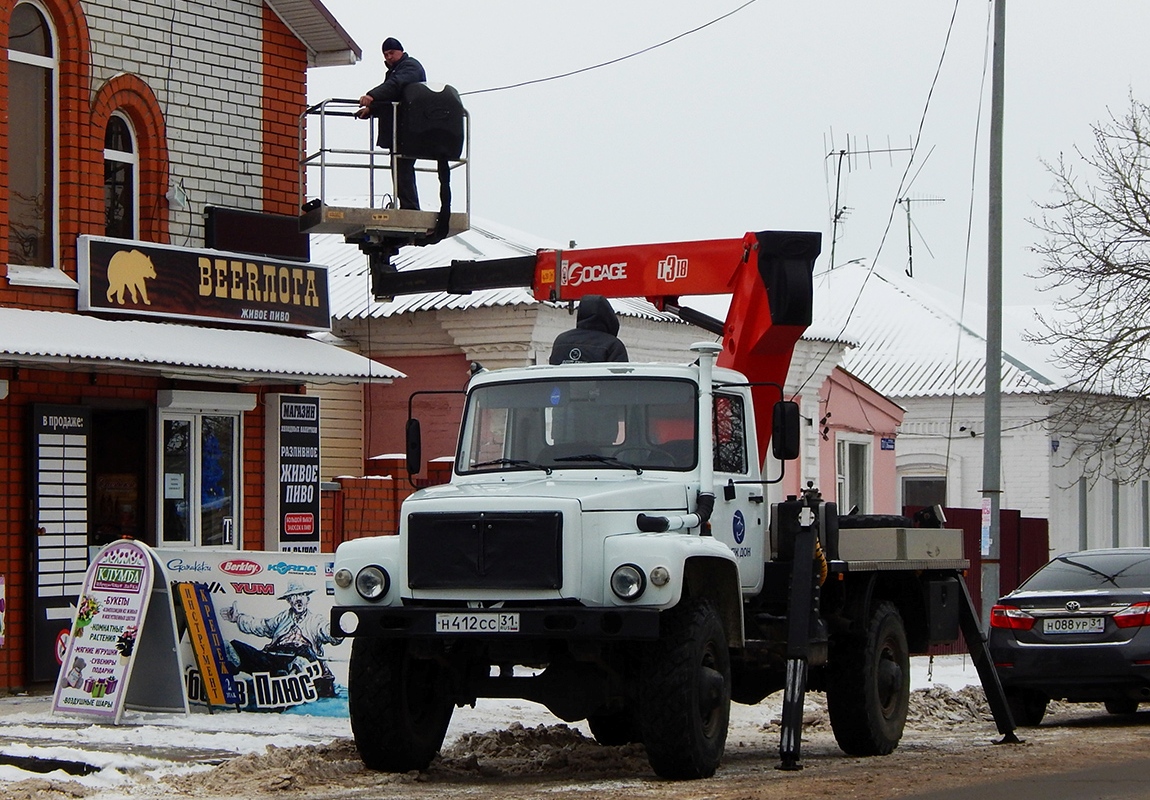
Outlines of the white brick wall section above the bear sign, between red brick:
{"label": "white brick wall section above the bear sign, between red brick", "polygon": [[261,206],[262,8],[262,0],[83,2],[93,95],[129,72],[163,110],[170,182],[183,180],[190,200],[169,211],[174,243],[202,244],[205,206]]}

